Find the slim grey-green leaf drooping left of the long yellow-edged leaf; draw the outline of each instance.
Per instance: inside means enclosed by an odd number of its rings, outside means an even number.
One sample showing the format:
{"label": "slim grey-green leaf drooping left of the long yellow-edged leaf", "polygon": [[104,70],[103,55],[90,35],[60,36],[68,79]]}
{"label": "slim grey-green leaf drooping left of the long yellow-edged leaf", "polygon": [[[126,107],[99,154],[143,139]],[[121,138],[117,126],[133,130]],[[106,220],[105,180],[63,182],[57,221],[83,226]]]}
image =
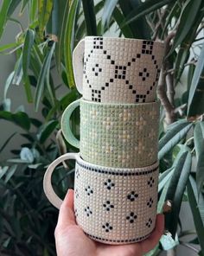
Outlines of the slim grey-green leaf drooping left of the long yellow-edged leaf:
{"label": "slim grey-green leaf drooping left of the long yellow-edged leaf", "polygon": [[[41,100],[41,96],[44,92],[44,86],[46,84],[46,79],[47,79],[47,82],[49,83],[48,75],[49,75],[52,56],[54,54],[54,47],[55,47],[55,43],[53,44],[52,48],[50,49],[50,51],[46,55],[45,60],[44,60],[44,62],[42,64],[42,67],[41,67],[41,73],[39,75],[39,79],[37,81],[37,86],[36,86],[36,91],[35,91],[35,111],[38,110],[40,100]],[[49,90],[48,90],[48,92],[49,92]]]}

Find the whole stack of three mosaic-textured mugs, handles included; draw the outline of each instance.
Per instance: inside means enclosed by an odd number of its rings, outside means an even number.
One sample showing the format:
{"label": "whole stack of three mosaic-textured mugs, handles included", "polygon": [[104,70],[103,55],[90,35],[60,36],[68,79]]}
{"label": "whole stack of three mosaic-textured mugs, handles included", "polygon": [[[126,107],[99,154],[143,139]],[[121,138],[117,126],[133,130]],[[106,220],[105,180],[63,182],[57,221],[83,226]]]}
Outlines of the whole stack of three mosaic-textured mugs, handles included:
{"label": "whole stack of three mosaic-textured mugs, handles included", "polygon": [[[93,240],[137,242],[155,227],[160,109],[156,86],[162,61],[163,43],[146,40],[88,36],[73,51],[82,98],[67,106],[61,129],[80,154],[56,159],[48,167],[44,189],[59,207],[51,174],[61,161],[76,160],[74,212]],[[80,141],[70,128],[77,106]]]}

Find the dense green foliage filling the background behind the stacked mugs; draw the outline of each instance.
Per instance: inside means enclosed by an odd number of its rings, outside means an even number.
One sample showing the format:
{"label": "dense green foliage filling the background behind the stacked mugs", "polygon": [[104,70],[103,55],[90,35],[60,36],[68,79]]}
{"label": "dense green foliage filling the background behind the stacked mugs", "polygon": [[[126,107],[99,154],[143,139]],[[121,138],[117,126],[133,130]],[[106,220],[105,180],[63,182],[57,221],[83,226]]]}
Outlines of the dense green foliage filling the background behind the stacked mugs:
{"label": "dense green foliage filling the background behind the stacked mugs", "polygon": [[[14,17],[16,10],[28,17],[26,26]],[[0,44],[1,54],[16,56],[14,70],[4,83],[0,118],[20,127],[26,143],[12,150],[14,157],[0,163],[0,253],[55,255],[57,210],[43,194],[42,178],[54,158],[76,151],[62,138],[60,127],[61,113],[80,98],[73,80],[72,51],[85,35],[105,35],[114,28],[118,36],[160,40],[166,46],[157,91],[163,106],[158,212],[166,200],[172,210],[166,214],[169,232],[149,254],[166,250],[174,255],[180,243],[204,255],[203,14],[201,0],[2,1],[0,37],[8,22],[15,22],[19,29],[15,41]],[[56,74],[60,84],[55,83]],[[23,86],[41,118],[34,118],[24,106],[14,109],[8,95],[15,85]],[[61,95],[61,89],[66,93]],[[72,117],[76,136],[79,124],[78,111]],[[4,138],[0,153],[15,138],[16,132]],[[74,163],[64,163],[57,170],[54,187],[63,197],[68,187],[73,188]],[[192,210],[193,231],[181,225],[182,202]],[[194,234],[194,240],[183,242],[188,234]],[[195,248],[197,244],[201,250]]]}

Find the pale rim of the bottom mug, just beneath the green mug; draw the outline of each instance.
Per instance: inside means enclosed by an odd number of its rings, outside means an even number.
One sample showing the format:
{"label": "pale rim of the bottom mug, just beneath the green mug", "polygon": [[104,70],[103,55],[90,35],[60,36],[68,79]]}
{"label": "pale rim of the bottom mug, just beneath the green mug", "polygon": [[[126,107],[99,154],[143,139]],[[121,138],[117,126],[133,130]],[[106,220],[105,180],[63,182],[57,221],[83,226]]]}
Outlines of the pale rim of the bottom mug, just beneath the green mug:
{"label": "pale rim of the bottom mug, just beneath the green mug", "polygon": [[75,156],[76,163],[80,163],[80,166],[86,166],[91,168],[92,170],[106,170],[106,171],[111,171],[111,172],[135,172],[135,171],[145,171],[145,170],[153,170],[159,167],[159,161],[156,160],[155,163],[152,163],[148,166],[143,166],[143,167],[135,167],[135,168],[119,168],[119,167],[109,167],[109,166],[104,166],[104,165],[99,165],[96,163],[90,163],[85,161],[81,156],[80,152],[76,153]]}

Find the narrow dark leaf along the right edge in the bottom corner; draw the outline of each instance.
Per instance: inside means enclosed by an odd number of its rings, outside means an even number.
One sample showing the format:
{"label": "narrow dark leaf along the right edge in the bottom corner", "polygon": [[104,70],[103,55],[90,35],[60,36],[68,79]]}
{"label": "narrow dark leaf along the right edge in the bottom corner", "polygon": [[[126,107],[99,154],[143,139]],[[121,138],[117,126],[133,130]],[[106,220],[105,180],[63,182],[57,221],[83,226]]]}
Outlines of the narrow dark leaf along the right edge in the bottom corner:
{"label": "narrow dark leaf along the right edge in the bottom corner", "polygon": [[187,184],[187,192],[188,192],[188,202],[190,204],[190,208],[192,214],[194,216],[194,227],[196,229],[196,233],[198,236],[198,240],[200,242],[201,251],[204,252],[204,225],[201,219],[201,212],[198,208],[198,195],[196,193],[196,185],[192,176],[189,176],[188,184]]}

